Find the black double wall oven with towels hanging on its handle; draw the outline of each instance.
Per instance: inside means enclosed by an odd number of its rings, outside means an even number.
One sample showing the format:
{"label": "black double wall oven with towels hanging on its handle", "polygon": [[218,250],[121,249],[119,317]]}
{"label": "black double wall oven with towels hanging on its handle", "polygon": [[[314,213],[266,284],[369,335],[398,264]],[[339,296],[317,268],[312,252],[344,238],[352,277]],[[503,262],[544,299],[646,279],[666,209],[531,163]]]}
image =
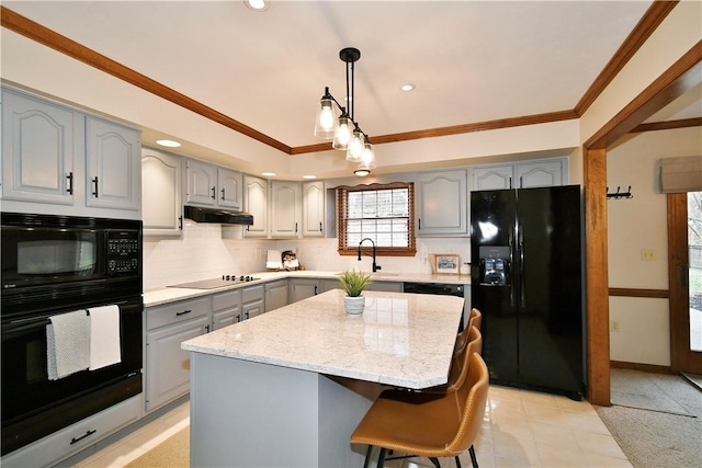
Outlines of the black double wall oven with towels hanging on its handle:
{"label": "black double wall oven with towels hanging on its handle", "polygon": [[[1,220],[5,455],[141,392],[144,304],[141,221],[18,213]],[[116,358],[50,374],[52,320],[91,309],[110,309]]]}

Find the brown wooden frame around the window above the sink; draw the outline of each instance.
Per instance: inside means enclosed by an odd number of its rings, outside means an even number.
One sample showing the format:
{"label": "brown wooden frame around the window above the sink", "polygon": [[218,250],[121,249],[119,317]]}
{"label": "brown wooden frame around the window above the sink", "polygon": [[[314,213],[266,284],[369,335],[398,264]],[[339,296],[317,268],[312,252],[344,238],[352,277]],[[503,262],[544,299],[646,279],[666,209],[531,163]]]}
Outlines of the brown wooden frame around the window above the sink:
{"label": "brown wooden frame around the window above the sink", "polygon": [[[348,194],[352,192],[377,192],[383,190],[407,189],[409,195],[409,214],[407,218],[408,247],[376,247],[376,256],[415,256],[417,254],[417,236],[415,232],[415,183],[414,182],[392,182],[372,183],[365,185],[341,185],[337,187],[337,226],[338,226],[338,252],[339,255],[356,255],[358,246],[347,246],[347,221],[348,221]],[[404,218],[404,217],[403,217]],[[375,219],[375,218],[367,218]],[[361,246],[362,253],[372,253],[373,244],[365,242]]]}

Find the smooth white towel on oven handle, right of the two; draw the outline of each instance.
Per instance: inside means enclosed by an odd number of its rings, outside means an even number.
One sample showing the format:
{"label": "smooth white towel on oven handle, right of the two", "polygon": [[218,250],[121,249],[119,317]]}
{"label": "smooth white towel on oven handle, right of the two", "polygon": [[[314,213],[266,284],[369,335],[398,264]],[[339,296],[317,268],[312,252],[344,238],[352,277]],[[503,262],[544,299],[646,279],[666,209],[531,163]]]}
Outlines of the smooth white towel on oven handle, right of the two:
{"label": "smooth white towel on oven handle, right of the two", "polygon": [[90,370],[121,361],[120,306],[90,308]]}

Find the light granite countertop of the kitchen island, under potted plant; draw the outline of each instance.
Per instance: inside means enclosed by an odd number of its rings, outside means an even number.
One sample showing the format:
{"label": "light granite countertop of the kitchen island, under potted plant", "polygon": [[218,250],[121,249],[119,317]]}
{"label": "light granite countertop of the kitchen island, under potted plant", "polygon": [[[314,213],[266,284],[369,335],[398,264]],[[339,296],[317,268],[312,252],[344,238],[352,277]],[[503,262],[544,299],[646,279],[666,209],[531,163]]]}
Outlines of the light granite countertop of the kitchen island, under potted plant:
{"label": "light granite countertop of the kitchen island, under potted plant", "polygon": [[182,343],[196,353],[406,388],[448,381],[463,299],[363,293],[349,316],[340,289],[313,296]]}

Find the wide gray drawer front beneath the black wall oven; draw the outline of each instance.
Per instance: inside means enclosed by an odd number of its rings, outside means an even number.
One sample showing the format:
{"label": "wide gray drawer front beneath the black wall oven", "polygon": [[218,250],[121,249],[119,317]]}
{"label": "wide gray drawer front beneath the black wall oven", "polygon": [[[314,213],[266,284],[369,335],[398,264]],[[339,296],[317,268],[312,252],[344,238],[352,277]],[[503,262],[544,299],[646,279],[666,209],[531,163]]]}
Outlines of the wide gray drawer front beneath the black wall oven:
{"label": "wide gray drawer front beneath the black wall oven", "polygon": [[141,416],[143,393],[2,457],[3,467],[54,466]]}

